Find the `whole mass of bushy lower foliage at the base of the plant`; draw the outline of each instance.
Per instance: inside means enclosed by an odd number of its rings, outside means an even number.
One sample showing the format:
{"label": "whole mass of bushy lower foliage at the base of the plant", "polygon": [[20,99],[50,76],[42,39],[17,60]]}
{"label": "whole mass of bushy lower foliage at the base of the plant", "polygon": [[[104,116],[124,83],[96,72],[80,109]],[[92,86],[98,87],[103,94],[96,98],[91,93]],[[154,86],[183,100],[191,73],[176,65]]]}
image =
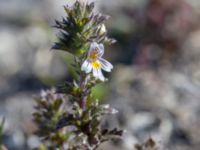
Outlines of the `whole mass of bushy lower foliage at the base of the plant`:
{"label": "whole mass of bushy lower foliage at the base of the plant", "polygon": [[[109,105],[99,105],[95,100],[87,105],[87,109],[83,109],[76,103],[76,99],[65,96],[55,93],[55,90],[47,90],[35,98],[37,111],[33,117],[38,124],[36,134],[42,137],[48,149],[53,150],[66,144],[69,149],[77,147],[94,149],[102,142],[122,135],[122,130],[116,128],[113,130],[100,128],[102,117],[116,113],[115,109]],[[71,103],[67,105],[70,99]],[[82,140],[78,142],[76,138]]]}

